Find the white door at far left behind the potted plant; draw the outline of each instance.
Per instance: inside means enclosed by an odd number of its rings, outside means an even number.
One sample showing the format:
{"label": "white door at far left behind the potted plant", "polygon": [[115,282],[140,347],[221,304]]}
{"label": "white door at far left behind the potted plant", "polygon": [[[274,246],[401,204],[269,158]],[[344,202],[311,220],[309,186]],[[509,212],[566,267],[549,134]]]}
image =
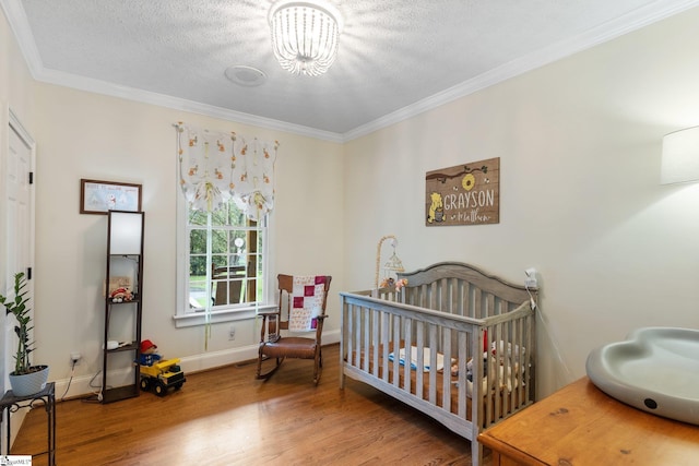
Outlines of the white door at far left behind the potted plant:
{"label": "white door at far left behind the potted plant", "polygon": [[[3,180],[5,241],[2,251],[5,283],[2,284],[2,295],[13,297],[14,274],[16,272],[27,273],[33,262],[34,204],[29,174],[33,168],[34,142],[24,132],[22,126],[13,119],[13,115],[11,115],[8,132],[9,147]],[[29,282],[28,292],[28,297],[33,298],[34,286],[32,282]],[[7,374],[14,369],[14,349],[16,348],[14,325],[14,320],[7,316],[3,328],[4,337],[2,338],[4,347],[0,348],[2,351],[0,361],[4,362],[3,368],[0,368],[0,375],[2,375],[4,390],[9,389]]]}

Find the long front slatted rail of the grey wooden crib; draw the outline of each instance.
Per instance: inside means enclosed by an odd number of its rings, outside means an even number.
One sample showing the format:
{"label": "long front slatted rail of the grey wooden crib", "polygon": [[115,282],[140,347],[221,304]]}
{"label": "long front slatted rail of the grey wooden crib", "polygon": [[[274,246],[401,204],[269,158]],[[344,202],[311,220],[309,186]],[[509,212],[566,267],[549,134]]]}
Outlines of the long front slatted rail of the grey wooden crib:
{"label": "long front slatted rail of the grey wooden crib", "polygon": [[[410,304],[388,303],[351,294],[341,294],[341,297],[343,336],[340,353],[344,366],[341,386],[344,386],[344,375],[351,375],[427,413],[457,433],[471,438],[471,422],[477,423],[478,419],[467,419],[471,416],[466,411],[465,372],[459,375],[457,384],[451,383],[451,378],[443,377],[441,386],[437,386],[436,370],[413,371],[410,363],[401,366],[400,351],[401,348],[415,346],[415,365],[418,368],[437,368],[437,359],[441,355],[442,370],[449,373],[452,358],[466,360],[466,355],[473,351],[466,348],[477,340],[478,337],[474,337],[477,327],[464,318],[428,312]],[[455,353],[451,350],[452,340],[460,348]],[[390,355],[393,357],[390,358]],[[482,361],[475,361],[474,373],[479,374],[482,385]],[[479,396],[481,385],[476,381],[473,396]],[[459,392],[455,407],[451,406],[452,391]]]}

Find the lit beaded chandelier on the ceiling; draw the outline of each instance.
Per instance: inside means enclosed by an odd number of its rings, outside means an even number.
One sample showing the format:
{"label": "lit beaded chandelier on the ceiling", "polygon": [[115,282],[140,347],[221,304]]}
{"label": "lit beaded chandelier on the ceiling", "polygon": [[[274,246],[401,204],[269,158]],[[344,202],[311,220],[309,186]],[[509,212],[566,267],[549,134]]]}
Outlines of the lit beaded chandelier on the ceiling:
{"label": "lit beaded chandelier on the ceiling", "polygon": [[341,20],[328,2],[281,0],[272,5],[272,48],[282,68],[308,76],[328,71],[335,61]]}

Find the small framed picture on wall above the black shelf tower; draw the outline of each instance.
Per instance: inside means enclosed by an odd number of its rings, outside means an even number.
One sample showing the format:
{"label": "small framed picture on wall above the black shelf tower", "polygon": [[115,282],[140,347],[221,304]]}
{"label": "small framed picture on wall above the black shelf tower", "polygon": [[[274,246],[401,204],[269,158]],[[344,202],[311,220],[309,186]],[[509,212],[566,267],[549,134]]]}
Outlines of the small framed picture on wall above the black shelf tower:
{"label": "small framed picture on wall above the black shelf tower", "polygon": [[141,184],[80,180],[80,213],[141,212]]}

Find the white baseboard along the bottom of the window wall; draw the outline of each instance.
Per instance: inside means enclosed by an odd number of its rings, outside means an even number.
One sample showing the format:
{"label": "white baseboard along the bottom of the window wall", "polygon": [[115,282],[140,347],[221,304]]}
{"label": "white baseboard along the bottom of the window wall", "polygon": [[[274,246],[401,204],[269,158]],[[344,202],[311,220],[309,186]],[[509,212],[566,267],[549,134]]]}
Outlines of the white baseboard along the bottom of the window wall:
{"label": "white baseboard along the bottom of the window wall", "polygon": [[[332,345],[334,343],[340,342],[340,331],[331,331],[323,334],[323,345]],[[254,360],[258,357],[258,345],[248,345],[241,346],[238,348],[224,349],[221,351],[212,351],[212,353],[203,353],[194,356],[187,356],[180,358],[180,367],[187,373],[200,372],[209,369],[215,369],[223,366],[229,366],[237,362]],[[109,372],[110,380],[125,380],[128,381],[131,377],[132,372],[130,369],[125,369],[121,371]],[[90,382],[93,381],[93,384],[99,384],[102,381],[102,377],[93,375],[80,375],[70,379],[61,379],[56,380],[56,401],[59,402],[63,398],[74,398],[74,397],[83,397],[91,394],[97,394],[99,389],[90,386]],[[70,389],[68,393],[66,393],[66,389],[70,383]],[[125,382],[125,384],[128,382]],[[185,385],[187,386],[187,385]],[[20,425],[21,422],[15,422],[14,418],[12,418],[12,427]]]}

